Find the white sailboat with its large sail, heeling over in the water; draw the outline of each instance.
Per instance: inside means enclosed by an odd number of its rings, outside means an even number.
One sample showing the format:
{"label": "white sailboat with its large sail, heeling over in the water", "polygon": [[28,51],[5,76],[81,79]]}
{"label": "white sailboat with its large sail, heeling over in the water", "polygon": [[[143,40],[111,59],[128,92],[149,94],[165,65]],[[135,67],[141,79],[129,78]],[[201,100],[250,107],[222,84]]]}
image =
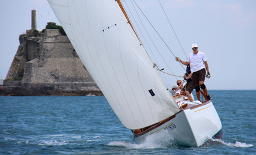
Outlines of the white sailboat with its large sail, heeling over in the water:
{"label": "white sailboat with its large sail, heeling over in the water", "polygon": [[[173,96],[135,33],[120,0],[48,0],[71,44],[135,141],[168,130],[186,146],[221,138],[209,100],[190,105]],[[182,102],[182,105],[180,104]],[[181,105],[181,106],[179,106]]]}

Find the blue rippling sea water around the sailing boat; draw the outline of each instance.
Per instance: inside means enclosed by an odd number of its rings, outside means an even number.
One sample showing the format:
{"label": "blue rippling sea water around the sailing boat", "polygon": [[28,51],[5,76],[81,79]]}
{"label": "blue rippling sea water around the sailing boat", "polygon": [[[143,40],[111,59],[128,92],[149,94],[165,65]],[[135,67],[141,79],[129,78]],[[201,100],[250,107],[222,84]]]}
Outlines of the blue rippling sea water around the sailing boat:
{"label": "blue rippling sea water around the sailing boat", "polygon": [[163,131],[133,142],[104,96],[0,96],[0,154],[256,154],[256,91],[209,91],[223,139],[179,146]]}

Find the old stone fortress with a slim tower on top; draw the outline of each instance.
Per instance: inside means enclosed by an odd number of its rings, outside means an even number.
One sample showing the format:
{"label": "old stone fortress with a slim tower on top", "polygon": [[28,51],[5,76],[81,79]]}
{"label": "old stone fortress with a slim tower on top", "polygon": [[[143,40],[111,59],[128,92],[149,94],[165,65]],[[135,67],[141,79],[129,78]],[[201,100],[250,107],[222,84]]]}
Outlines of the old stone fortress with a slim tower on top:
{"label": "old stone fortress with a slim tower on top", "polygon": [[35,30],[36,11],[32,10],[32,29],[19,37],[20,46],[0,95],[103,95],[67,36],[58,29],[38,35],[33,34]]}

